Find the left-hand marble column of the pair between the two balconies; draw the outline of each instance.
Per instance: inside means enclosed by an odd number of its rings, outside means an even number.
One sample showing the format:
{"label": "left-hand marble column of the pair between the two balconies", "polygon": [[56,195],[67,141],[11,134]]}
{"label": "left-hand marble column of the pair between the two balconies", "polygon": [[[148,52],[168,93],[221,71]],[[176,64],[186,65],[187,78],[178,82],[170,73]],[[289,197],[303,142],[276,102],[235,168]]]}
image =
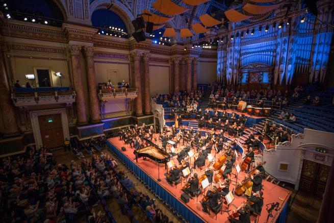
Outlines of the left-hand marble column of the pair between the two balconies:
{"label": "left-hand marble column of the pair between the two balconies", "polygon": [[76,117],[78,118],[79,125],[87,124],[87,115],[85,107],[84,91],[81,78],[81,66],[80,66],[80,51],[81,45],[69,45],[68,48],[71,54],[71,65],[73,73],[73,85],[75,89],[75,103],[76,103]]}

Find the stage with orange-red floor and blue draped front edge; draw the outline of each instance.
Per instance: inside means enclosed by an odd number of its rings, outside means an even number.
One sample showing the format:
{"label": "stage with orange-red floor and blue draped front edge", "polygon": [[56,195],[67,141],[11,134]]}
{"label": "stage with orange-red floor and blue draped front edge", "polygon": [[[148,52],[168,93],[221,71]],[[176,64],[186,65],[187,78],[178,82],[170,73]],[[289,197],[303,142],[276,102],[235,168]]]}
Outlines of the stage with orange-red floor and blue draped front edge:
{"label": "stage with orange-red floor and blue draped front edge", "polygon": [[[158,138],[158,135],[155,135]],[[159,142],[157,143],[159,144]],[[121,151],[121,147],[124,146],[126,151]],[[161,146],[161,145],[160,145]],[[210,215],[202,211],[202,206],[200,200],[203,197],[203,193],[198,196],[198,200],[194,197],[188,204],[185,204],[181,199],[181,194],[183,191],[181,188],[185,184],[183,180],[176,187],[171,186],[167,183],[164,174],[166,173],[165,165],[160,164],[160,179],[161,182],[158,182],[158,163],[147,159],[143,160],[142,158],[138,159],[138,163],[134,160],[135,155],[133,154],[134,149],[130,145],[124,144],[117,137],[108,139],[108,147],[110,151],[118,157],[118,159],[127,166],[130,171],[133,172],[144,184],[145,186],[153,192],[159,199],[161,199],[167,207],[170,207],[171,210],[176,214],[176,216],[182,218],[187,222],[229,222],[227,219],[228,213],[227,205],[223,204],[222,214],[219,212],[216,219],[216,214],[212,211]],[[169,151],[167,151],[169,152]],[[241,162],[241,157],[237,159],[236,163]],[[177,163],[175,159],[175,163]],[[199,177],[202,175],[204,170],[199,173]],[[233,173],[235,173],[233,169]],[[245,173],[241,171],[238,175],[238,181],[240,182],[245,177]],[[236,176],[232,175],[232,180],[236,181]],[[279,209],[277,211],[272,211],[273,217],[269,217],[268,222],[285,222],[288,212],[288,204],[291,192],[285,188],[282,188],[278,185],[272,184],[268,181],[263,181],[263,192],[264,192],[264,207],[262,213],[259,216],[259,220],[256,222],[266,222],[268,212],[266,211],[266,205],[271,203],[278,203]],[[235,188],[234,183],[230,184],[230,191]],[[202,191],[204,192],[204,190]],[[206,191],[205,191],[206,192]],[[245,196],[235,195],[235,200],[232,202],[233,205],[239,206],[243,201],[246,201]],[[232,213],[236,208],[230,205],[229,213]],[[269,206],[270,207],[270,206]],[[254,222],[256,216],[251,216],[251,221]]]}

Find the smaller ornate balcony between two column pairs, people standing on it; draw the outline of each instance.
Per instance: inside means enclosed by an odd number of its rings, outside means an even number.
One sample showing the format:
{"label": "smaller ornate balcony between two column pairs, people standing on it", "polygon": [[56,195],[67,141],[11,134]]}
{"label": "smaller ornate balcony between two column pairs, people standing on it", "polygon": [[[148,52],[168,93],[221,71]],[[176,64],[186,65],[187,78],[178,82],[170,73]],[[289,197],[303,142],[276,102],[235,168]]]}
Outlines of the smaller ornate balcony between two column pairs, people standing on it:
{"label": "smaller ornate balcony between two column pairs, people standing on it", "polygon": [[137,88],[123,88],[123,89],[102,89],[99,90],[98,97],[101,101],[109,101],[120,98],[136,98]]}

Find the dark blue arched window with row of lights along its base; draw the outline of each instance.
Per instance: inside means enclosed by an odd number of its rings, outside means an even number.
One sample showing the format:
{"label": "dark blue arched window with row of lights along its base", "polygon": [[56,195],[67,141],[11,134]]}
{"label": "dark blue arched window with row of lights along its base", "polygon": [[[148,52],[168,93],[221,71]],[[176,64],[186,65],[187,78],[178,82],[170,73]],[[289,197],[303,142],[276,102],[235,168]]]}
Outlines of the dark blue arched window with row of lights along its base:
{"label": "dark blue arched window with row of lights along its base", "polygon": [[113,11],[99,9],[92,14],[92,25],[100,34],[127,38],[127,30],[123,20]]}

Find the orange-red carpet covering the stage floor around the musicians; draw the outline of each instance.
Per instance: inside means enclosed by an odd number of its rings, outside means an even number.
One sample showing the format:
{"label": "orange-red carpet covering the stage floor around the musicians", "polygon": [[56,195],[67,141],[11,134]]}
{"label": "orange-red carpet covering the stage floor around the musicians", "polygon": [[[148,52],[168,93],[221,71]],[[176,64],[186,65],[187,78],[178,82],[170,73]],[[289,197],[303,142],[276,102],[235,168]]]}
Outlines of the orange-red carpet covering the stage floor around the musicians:
{"label": "orange-red carpet covering the stage floor around the musicians", "polygon": [[[156,137],[158,138],[158,135],[156,135]],[[134,149],[131,148],[129,145],[124,144],[122,141],[120,141],[117,137],[115,138],[111,138],[108,139],[113,145],[115,145],[118,150],[120,150],[120,148],[122,146],[126,147],[126,151],[122,152],[127,158],[131,159],[134,163],[136,162],[136,160],[134,160],[135,155],[133,154]],[[157,143],[159,144],[159,143]],[[121,151],[121,150],[120,150]],[[175,163],[177,164],[177,160],[175,160]],[[241,162],[241,158],[239,157],[236,161],[236,164]],[[146,172],[147,175],[149,175],[151,178],[153,179],[158,179],[158,164],[150,159],[147,160],[143,160],[142,158],[138,159],[138,163],[137,165]],[[183,193],[183,191],[181,190],[181,188],[184,186],[185,182],[183,181],[181,184],[178,184],[175,188],[175,186],[170,186],[167,181],[166,178],[164,176],[166,170],[164,168],[164,164],[160,164],[160,179],[161,182],[158,182],[162,187],[164,187],[166,189],[166,191],[168,191],[170,194],[172,194],[173,196],[175,196],[177,199],[179,199],[179,197],[181,197],[181,194]],[[192,166],[192,165],[191,165]],[[233,172],[235,172],[235,168],[233,169]],[[197,171],[198,177],[200,177],[204,172],[204,169],[202,169],[201,172]],[[241,171],[238,175],[238,181],[240,182],[241,180],[243,180],[245,178],[245,172]],[[232,175],[232,180],[236,181],[236,177],[234,175]],[[234,183],[230,184],[229,190],[232,191],[233,188],[235,188]],[[291,192],[285,188],[282,188],[278,185],[272,184],[268,181],[263,181],[263,192],[264,192],[264,207],[262,209],[262,213],[261,216],[259,216],[259,220],[256,220],[256,222],[266,222],[267,220],[267,216],[268,213],[266,211],[266,205],[267,204],[271,204],[271,203],[279,203],[279,210],[273,211],[273,218],[269,218],[268,222],[275,222],[277,217],[280,214],[281,208],[284,207],[284,205],[286,204],[286,202],[288,201]],[[202,205],[200,204],[200,200],[202,199],[203,194],[198,196],[198,201],[196,201],[196,197],[194,197],[192,200],[190,200],[190,202],[188,204],[185,204],[186,207],[188,207],[192,212],[196,213],[198,216],[200,216],[200,218],[203,219],[203,221],[205,222],[229,222],[227,219],[227,212],[225,212],[227,210],[227,205],[223,205],[223,212],[218,213],[217,215],[217,220],[216,220],[216,215],[211,211],[210,215],[203,212],[202,211]],[[237,196],[235,195],[235,200],[232,202],[232,204],[236,205],[237,207],[242,203],[246,201],[246,197],[245,196]],[[229,213],[232,213],[233,210],[235,210],[236,208],[233,207],[233,205],[229,206]],[[255,216],[251,216],[251,221],[254,222],[254,220],[256,219]]]}

